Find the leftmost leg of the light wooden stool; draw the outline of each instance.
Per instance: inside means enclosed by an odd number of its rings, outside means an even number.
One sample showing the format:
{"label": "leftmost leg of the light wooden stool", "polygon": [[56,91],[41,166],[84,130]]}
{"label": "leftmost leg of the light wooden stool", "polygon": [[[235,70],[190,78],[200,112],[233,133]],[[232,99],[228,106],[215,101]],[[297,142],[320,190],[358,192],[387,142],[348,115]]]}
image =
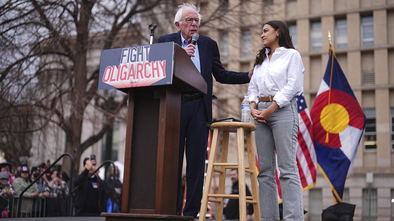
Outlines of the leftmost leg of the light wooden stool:
{"label": "leftmost leg of the light wooden stool", "polygon": [[216,127],[214,129],[214,133],[212,135],[211,152],[209,155],[208,166],[206,169],[203,199],[201,201],[200,217],[199,217],[199,220],[201,220],[201,221],[205,221],[206,209],[208,208],[208,193],[211,188],[212,172],[214,170],[214,162],[215,162],[215,157],[216,157],[217,144],[219,143],[219,133],[220,133],[220,130],[219,130],[219,128]]}

